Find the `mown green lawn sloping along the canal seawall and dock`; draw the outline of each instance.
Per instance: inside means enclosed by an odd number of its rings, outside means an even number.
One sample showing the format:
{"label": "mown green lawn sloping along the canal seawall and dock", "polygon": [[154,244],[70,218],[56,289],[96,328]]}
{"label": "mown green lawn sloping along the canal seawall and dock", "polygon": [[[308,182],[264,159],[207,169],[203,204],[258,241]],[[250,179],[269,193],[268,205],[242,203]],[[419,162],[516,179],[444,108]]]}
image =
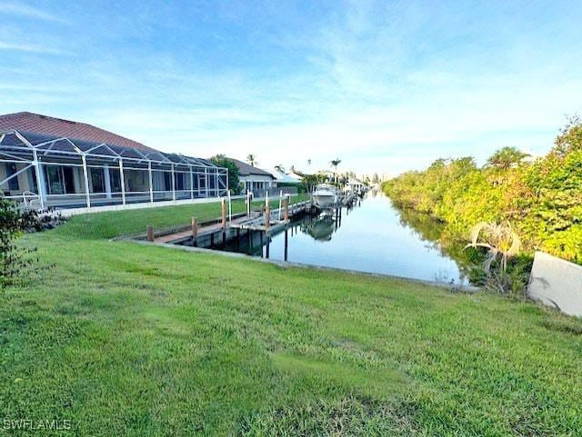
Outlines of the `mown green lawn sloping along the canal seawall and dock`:
{"label": "mown green lawn sloping along the canal seawall and dock", "polygon": [[79,216],[26,236],[54,266],[2,296],[0,435],[18,419],[87,436],[582,433],[578,319],[105,239],[216,208]]}

